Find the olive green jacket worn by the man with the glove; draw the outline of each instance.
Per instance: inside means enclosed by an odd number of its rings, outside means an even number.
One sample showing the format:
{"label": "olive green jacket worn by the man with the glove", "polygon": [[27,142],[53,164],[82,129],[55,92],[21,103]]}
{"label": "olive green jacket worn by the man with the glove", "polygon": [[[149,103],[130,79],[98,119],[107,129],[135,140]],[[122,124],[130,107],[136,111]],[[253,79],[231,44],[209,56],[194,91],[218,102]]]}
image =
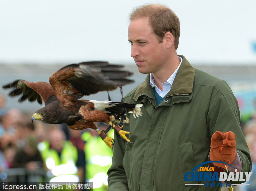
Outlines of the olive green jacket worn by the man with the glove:
{"label": "olive green jacket worn by the man with the glove", "polygon": [[158,106],[149,75],[124,97],[124,102],[143,104],[142,116],[127,115],[131,121],[124,130],[132,132],[132,144],[115,134],[108,191],[220,190],[220,186],[185,185],[206,182],[184,180],[186,172],[207,161],[215,131],[235,133],[241,171],[251,171],[238,103],[228,84],[181,57],[172,89]]}

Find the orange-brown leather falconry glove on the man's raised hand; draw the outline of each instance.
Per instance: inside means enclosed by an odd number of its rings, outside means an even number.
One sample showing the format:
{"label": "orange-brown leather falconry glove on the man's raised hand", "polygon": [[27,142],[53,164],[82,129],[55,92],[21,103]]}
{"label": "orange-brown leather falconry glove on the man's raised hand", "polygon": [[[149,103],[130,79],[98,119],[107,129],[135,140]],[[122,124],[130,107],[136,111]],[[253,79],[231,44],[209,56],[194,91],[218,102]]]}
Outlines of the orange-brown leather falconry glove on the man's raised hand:
{"label": "orange-brown leather falconry glove on the man's raised hand", "polygon": [[[232,131],[220,132],[216,131],[212,135],[210,160],[222,161],[231,164],[236,157],[236,141],[235,134]],[[225,169],[223,163],[213,163],[215,166]]]}

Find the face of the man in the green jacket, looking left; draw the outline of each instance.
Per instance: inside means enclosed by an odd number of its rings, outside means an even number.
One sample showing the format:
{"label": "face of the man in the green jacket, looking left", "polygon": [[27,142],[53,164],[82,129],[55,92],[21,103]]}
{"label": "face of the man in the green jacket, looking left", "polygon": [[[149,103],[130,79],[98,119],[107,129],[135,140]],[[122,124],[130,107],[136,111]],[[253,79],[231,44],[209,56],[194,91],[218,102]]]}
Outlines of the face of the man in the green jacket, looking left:
{"label": "face of the man in the green jacket, looking left", "polygon": [[167,50],[159,43],[149,25],[148,18],[132,20],[128,27],[131,56],[140,73],[157,73],[167,62]]}

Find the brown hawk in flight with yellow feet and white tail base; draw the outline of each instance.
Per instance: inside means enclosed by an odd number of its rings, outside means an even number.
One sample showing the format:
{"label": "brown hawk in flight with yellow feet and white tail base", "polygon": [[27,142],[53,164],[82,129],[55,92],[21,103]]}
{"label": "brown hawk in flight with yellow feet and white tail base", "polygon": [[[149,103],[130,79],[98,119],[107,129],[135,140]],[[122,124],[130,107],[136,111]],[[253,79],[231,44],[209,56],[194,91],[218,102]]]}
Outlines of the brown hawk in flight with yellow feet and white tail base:
{"label": "brown hawk in flight with yellow feet and white tail base", "polygon": [[[42,104],[44,101],[45,107],[36,111],[32,122],[39,120],[50,124],[66,123],[74,130],[91,128],[112,148],[115,142],[111,137],[107,137],[107,131],[114,128],[123,139],[130,142],[125,136],[130,132],[122,130],[123,123],[129,123],[125,113],[139,117],[142,115],[142,105],[81,98],[100,91],[112,91],[134,82],[127,78],[132,73],[122,70],[123,67],[104,61],[81,62],[67,65],[53,73],[49,78],[50,83],[19,79],[4,85],[3,88],[14,88],[9,96],[22,94],[20,102],[28,99],[31,102],[37,100]],[[106,131],[100,132],[94,122],[104,122],[110,126]],[[114,126],[115,122],[118,124]]]}

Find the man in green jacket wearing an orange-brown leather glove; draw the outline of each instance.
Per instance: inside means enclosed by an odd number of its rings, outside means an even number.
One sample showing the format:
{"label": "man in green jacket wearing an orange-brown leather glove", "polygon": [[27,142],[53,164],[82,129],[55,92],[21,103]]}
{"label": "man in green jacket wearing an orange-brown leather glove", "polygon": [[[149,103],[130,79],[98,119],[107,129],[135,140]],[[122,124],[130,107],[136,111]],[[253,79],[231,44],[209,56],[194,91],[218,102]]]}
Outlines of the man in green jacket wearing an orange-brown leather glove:
{"label": "man in green jacket wearing an orange-brown leather glove", "polygon": [[[236,98],[226,82],[177,55],[179,36],[179,19],[165,6],[147,4],[130,14],[131,56],[148,76],[124,97],[143,104],[143,114],[127,115],[124,130],[132,132],[132,144],[115,136],[109,191],[220,190],[184,176],[208,160],[251,171]],[[223,163],[213,164],[225,170]]]}

